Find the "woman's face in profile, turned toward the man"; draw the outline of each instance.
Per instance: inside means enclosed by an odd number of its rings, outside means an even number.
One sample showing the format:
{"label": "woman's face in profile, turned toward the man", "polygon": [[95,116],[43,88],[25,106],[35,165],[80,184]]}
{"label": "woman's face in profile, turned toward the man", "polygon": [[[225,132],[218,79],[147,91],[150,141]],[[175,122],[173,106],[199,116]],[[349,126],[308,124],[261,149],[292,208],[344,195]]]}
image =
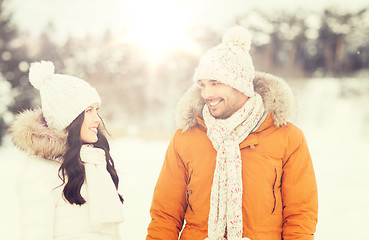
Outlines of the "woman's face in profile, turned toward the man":
{"label": "woman's face in profile, turned toward the man", "polygon": [[85,119],[81,126],[81,140],[83,143],[97,142],[97,127],[101,119],[97,114],[99,104],[94,103],[85,109]]}

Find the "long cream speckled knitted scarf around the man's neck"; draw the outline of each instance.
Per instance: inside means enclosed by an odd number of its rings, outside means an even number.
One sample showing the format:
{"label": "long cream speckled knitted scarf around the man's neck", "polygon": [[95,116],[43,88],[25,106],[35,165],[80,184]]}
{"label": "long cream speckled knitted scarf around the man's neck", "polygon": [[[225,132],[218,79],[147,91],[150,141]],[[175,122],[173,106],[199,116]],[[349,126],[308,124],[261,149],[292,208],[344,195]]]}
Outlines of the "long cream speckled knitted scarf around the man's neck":
{"label": "long cream speckled knitted scarf around the man's neck", "polygon": [[264,114],[261,96],[254,93],[227,119],[216,119],[203,109],[207,135],[217,151],[210,197],[207,240],[242,238],[242,160],[239,144]]}

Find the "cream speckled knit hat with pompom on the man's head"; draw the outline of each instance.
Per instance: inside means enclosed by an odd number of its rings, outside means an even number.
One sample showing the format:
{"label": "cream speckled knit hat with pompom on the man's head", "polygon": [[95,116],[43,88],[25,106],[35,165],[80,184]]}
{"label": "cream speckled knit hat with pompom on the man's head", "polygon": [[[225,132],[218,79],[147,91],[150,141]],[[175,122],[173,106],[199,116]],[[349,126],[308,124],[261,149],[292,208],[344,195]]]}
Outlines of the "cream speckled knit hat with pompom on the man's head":
{"label": "cream speckled knit hat with pompom on the man's head", "polygon": [[251,37],[240,26],[230,28],[222,43],[213,47],[200,60],[193,80],[217,80],[227,84],[246,96],[253,96],[254,65],[249,54]]}

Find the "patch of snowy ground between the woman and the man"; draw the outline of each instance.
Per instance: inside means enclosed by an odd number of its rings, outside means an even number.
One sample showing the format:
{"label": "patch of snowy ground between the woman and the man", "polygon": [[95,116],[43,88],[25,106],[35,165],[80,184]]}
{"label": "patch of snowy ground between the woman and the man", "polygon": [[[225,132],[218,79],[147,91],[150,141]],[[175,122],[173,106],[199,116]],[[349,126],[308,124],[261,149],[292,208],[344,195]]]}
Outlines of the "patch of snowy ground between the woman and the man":
{"label": "patch of snowy ground between the woman and the man", "polygon": [[145,239],[151,198],[168,143],[123,138],[111,144],[125,199],[125,223],[121,228],[124,240]]}

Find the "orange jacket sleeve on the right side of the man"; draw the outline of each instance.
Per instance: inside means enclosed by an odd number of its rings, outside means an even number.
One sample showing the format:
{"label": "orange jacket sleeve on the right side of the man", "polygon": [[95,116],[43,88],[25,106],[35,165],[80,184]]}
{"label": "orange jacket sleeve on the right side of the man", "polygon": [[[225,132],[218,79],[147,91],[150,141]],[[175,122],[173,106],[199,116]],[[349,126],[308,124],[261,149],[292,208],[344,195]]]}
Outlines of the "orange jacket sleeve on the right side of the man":
{"label": "orange jacket sleeve on the right side of the man", "polygon": [[312,240],[318,219],[313,163],[302,131],[290,131],[283,165],[283,239]]}

